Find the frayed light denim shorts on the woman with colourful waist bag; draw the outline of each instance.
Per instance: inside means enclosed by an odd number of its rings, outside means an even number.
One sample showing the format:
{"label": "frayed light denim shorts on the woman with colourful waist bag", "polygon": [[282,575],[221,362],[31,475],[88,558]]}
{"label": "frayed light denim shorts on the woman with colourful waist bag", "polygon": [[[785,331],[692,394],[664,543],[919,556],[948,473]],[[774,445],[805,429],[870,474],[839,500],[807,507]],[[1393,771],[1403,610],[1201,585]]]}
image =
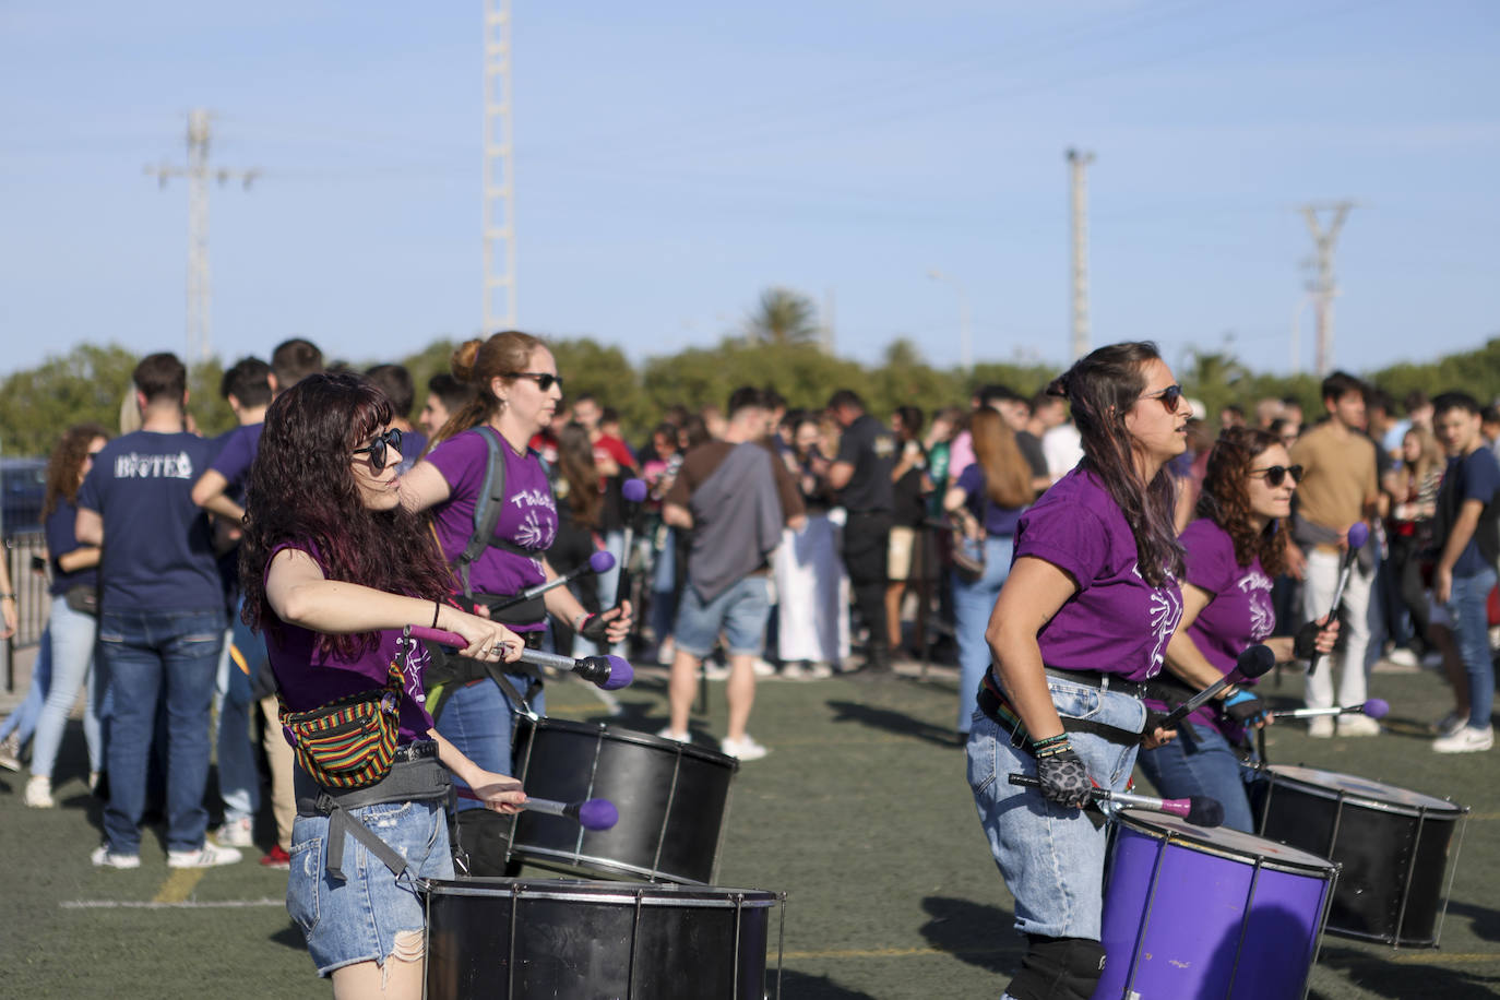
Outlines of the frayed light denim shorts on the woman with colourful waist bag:
{"label": "frayed light denim shorts on the woman with colourful waist bag", "polygon": [[344,874],[327,871],[328,817],[298,816],[291,828],[286,913],[308,939],[320,976],[363,961],[386,963],[402,931],[423,931],[426,915],[412,879],[452,879],[448,822],[442,801],[388,802],[350,810],[402,855],[399,879],[364,844],[345,835]]}

